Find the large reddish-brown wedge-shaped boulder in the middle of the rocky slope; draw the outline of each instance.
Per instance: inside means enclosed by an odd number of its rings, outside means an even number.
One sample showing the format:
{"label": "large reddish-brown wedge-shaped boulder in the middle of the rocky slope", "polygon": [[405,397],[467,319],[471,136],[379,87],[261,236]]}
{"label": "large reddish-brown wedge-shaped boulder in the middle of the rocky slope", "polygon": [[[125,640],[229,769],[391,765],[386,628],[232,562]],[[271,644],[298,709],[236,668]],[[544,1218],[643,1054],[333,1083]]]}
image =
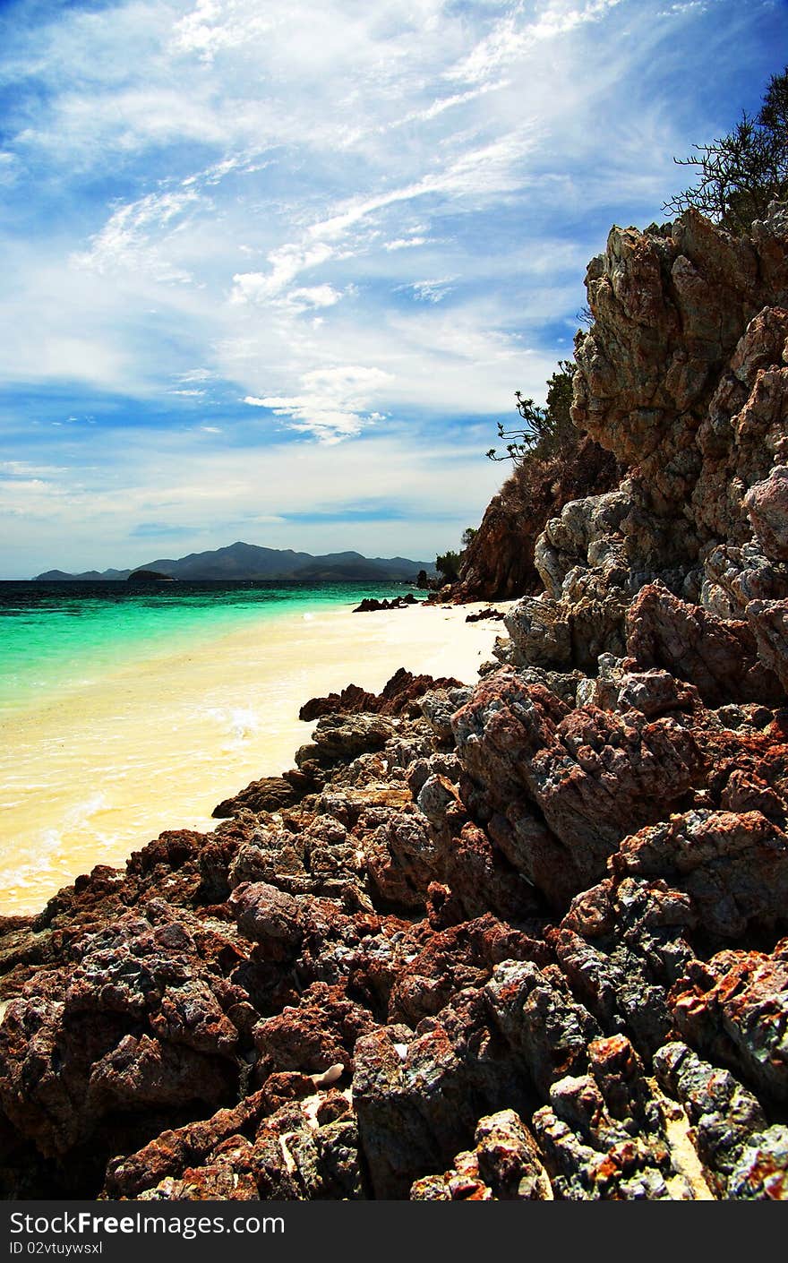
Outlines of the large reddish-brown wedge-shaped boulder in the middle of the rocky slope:
{"label": "large reddish-brown wedge-shaped boulder in the middle of the rocky slope", "polygon": [[480,791],[476,810],[487,815],[511,861],[558,906],[604,873],[633,827],[679,802],[702,762],[691,733],[669,716],[570,711],[506,672],[476,688],[453,727]]}

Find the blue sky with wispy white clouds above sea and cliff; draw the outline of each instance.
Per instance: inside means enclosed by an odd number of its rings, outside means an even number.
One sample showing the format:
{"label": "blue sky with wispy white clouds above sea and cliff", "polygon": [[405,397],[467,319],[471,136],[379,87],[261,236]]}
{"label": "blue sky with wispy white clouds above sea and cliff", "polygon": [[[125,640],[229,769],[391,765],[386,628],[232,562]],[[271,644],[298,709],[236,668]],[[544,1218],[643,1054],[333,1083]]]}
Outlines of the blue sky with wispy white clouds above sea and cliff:
{"label": "blue sky with wispy white clouds above sea and cliff", "polygon": [[0,576],[477,525],[787,0],[0,0]]}

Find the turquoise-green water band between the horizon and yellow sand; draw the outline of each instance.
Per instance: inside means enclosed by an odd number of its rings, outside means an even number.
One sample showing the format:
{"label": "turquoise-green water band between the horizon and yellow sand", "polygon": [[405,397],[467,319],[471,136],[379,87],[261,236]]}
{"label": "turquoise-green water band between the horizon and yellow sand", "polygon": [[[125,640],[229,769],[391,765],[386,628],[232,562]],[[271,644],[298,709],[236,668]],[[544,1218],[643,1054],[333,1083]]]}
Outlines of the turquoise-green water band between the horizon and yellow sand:
{"label": "turquoise-green water band between the horizon and yellow sand", "polygon": [[0,715],[255,621],[408,591],[403,584],[0,582]]}

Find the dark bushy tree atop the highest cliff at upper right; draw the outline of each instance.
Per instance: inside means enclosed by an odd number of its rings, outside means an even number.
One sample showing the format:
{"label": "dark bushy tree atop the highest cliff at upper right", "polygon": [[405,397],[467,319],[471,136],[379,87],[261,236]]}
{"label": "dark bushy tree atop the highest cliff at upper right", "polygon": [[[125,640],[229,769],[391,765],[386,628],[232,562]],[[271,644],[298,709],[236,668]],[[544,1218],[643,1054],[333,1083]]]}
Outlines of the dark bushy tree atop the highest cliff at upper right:
{"label": "dark bushy tree atop the highest cliff at upper right", "polygon": [[758,117],[743,111],[729,135],[693,148],[696,155],[673,162],[700,178],[663,210],[678,215],[692,206],[729,232],[746,232],[769,202],[788,198],[788,66],[772,76]]}

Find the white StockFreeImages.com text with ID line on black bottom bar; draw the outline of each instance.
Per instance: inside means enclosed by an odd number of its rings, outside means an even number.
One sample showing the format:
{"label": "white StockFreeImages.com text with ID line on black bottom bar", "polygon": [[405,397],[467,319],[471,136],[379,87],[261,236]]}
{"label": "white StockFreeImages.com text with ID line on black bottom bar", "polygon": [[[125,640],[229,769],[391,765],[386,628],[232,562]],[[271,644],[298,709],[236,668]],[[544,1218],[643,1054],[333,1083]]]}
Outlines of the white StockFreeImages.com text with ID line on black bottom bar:
{"label": "white StockFreeImages.com text with ID line on black bottom bar", "polygon": [[78,1214],[64,1211],[62,1215],[24,1215],[14,1211],[10,1216],[11,1236],[20,1234],[38,1240],[11,1240],[11,1254],[100,1254],[101,1242],[72,1243],[68,1249],[64,1243],[56,1243],[58,1249],[40,1249],[40,1238],[66,1236],[66,1235],[92,1235],[104,1233],[110,1235],[122,1234],[126,1236],[179,1236],[181,1240],[193,1242],[198,1236],[211,1234],[237,1233],[254,1236],[259,1233],[284,1233],[284,1219],[280,1215],[270,1215],[263,1219],[256,1215],[235,1215],[224,1218],[221,1215],[143,1215],[136,1211],[134,1215],[97,1215],[93,1211],[82,1210]]}

